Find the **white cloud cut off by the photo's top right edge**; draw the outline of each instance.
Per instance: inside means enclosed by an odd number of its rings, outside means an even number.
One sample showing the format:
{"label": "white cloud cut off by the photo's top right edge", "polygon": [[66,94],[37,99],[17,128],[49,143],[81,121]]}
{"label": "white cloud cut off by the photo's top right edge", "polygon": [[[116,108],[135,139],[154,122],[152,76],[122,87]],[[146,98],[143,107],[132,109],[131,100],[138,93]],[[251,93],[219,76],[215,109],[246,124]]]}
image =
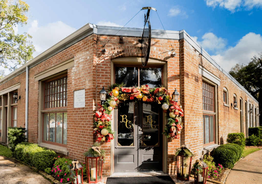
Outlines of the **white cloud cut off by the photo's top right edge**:
{"label": "white cloud cut off by the photo's top right edge", "polygon": [[[250,10],[254,7],[260,8],[262,5],[262,0],[205,0],[206,5],[212,8],[215,8],[216,6],[219,6],[221,8],[228,9],[232,13],[239,8]],[[258,7],[259,6],[259,7]]]}

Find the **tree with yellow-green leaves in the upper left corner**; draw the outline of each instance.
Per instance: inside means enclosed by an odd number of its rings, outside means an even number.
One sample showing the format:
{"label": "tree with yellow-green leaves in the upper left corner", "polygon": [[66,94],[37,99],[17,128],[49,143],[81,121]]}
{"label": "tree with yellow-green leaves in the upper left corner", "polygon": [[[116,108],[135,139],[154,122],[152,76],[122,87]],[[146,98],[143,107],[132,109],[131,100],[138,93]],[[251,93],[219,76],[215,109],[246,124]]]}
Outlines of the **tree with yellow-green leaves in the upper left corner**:
{"label": "tree with yellow-green leaves in the upper left corner", "polygon": [[27,24],[28,10],[24,1],[0,0],[0,64],[10,71],[33,58],[32,37],[28,33],[14,32],[14,27]]}

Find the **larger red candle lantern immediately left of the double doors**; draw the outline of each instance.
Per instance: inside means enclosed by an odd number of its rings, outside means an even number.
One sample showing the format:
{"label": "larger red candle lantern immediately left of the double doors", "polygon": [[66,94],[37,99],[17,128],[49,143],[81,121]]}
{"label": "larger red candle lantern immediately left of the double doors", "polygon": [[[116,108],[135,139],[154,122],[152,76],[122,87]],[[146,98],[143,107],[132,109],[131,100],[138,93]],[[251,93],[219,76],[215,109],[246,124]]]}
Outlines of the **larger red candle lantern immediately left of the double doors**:
{"label": "larger red candle lantern immediately left of the double doors", "polygon": [[98,183],[102,181],[102,166],[103,157],[85,157],[86,175],[88,176],[88,183]]}

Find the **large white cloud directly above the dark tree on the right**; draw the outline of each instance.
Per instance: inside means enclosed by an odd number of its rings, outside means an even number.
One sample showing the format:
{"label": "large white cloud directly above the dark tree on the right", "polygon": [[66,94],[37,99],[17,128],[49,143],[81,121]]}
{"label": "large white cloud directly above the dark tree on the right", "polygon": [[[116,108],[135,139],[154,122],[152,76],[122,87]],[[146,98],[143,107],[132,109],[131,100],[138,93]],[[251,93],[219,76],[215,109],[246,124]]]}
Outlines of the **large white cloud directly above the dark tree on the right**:
{"label": "large white cloud directly above the dark tree on the right", "polygon": [[226,72],[237,63],[247,64],[262,52],[262,37],[260,34],[248,33],[243,36],[236,46],[228,48],[225,52],[211,56]]}

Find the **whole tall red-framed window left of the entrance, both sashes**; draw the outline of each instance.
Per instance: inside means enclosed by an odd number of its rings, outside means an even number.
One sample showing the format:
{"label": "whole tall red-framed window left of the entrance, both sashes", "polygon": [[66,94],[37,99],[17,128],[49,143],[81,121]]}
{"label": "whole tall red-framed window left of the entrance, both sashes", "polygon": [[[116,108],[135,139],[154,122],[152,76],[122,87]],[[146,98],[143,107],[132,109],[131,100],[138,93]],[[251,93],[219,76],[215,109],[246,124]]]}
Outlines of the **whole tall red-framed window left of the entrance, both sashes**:
{"label": "whole tall red-framed window left of the entrance, both sashes", "polygon": [[43,113],[43,143],[65,146],[67,144],[67,76],[44,83],[44,109],[48,112]]}

